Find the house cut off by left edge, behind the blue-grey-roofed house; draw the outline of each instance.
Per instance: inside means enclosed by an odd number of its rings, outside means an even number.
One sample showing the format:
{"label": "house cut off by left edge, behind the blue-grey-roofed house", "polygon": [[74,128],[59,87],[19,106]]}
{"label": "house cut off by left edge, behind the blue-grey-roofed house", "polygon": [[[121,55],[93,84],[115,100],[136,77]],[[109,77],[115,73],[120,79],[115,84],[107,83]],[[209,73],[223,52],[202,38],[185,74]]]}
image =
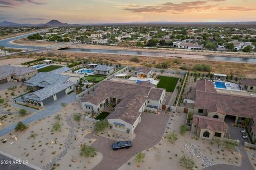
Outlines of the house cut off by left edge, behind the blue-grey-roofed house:
{"label": "house cut off by left edge, behind the blue-grey-roofed house", "polygon": [[26,66],[0,66],[0,84],[15,81],[26,81],[26,79],[34,77],[38,72],[36,69]]}

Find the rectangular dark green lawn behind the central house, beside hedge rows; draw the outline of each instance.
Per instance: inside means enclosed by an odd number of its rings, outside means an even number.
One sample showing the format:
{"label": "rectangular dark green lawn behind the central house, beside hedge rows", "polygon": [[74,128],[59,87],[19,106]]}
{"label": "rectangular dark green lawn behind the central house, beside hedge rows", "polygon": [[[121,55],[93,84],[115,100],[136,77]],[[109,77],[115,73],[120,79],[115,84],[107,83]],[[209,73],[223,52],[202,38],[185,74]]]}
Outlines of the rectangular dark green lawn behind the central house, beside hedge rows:
{"label": "rectangular dark green lawn behind the central house, beside hedge rows", "polygon": [[160,80],[157,84],[158,88],[164,88],[168,92],[173,92],[175,90],[176,84],[179,81],[179,78],[172,78],[159,75],[158,79]]}

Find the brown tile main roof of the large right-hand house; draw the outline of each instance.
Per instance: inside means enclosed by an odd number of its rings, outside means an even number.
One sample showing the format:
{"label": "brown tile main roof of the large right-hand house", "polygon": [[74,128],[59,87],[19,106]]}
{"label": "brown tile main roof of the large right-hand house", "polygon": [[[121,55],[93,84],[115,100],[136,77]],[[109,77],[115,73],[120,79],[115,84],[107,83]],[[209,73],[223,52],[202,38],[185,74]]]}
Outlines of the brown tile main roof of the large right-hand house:
{"label": "brown tile main roof of the large right-hand house", "polygon": [[195,107],[224,115],[252,117],[256,111],[256,98],[217,93],[213,83],[199,80],[196,84]]}

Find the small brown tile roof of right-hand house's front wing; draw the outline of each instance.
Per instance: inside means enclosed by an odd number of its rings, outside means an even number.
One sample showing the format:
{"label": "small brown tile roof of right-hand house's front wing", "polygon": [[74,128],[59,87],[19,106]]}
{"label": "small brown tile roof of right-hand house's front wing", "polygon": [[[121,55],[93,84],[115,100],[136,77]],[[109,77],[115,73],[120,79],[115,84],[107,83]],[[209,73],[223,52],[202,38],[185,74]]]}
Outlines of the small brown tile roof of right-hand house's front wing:
{"label": "small brown tile roof of right-hand house's front wing", "polygon": [[198,128],[209,129],[212,131],[225,132],[226,123],[220,118],[206,117],[201,115],[193,116],[193,124],[197,124]]}

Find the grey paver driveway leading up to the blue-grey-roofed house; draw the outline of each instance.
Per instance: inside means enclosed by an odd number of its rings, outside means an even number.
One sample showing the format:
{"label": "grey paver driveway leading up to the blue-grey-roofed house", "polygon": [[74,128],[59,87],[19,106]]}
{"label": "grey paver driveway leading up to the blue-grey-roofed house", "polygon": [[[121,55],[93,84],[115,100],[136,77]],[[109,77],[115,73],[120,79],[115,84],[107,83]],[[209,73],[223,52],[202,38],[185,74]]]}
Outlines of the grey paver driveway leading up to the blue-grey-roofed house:
{"label": "grey paver driveway leading up to the blue-grey-roofed house", "polygon": [[[36,110],[35,114],[25,118],[24,120],[22,120],[22,122],[25,124],[29,124],[29,123],[38,121],[39,119],[42,119],[44,117],[50,116],[50,115],[60,111],[60,109],[62,108],[61,103],[70,104],[73,101],[75,101],[75,99],[76,99],[75,95],[66,95],[61,98],[58,98],[58,100],[55,100],[53,103],[46,105],[45,108],[43,109],[43,111]],[[7,133],[12,132],[16,125],[17,125],[17,123],[14,123],[10,126],[7,126],[4,129],[0,130],[0,137],[4,136]]]}

